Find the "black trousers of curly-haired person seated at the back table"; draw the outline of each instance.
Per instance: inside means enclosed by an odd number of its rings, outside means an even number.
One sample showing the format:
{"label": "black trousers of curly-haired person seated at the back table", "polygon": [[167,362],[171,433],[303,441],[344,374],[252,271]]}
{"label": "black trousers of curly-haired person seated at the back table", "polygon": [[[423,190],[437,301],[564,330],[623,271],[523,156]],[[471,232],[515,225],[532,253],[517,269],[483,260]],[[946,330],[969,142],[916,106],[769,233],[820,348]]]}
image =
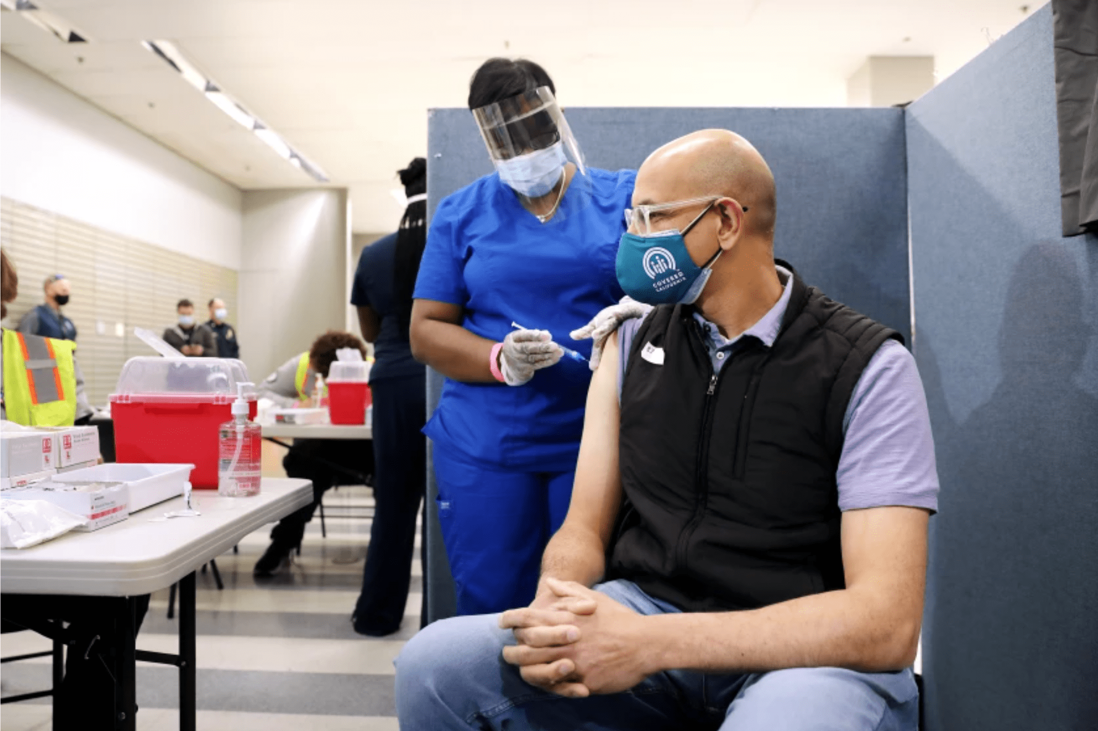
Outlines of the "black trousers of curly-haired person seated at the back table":
{"label": "black trousers of curly-haired person seated at the back table", "polygon": [[305,524],[313,519],[324,492],[336,484],[360,484],[373,472],[373,452],[367,439],[295,439],[282,458],[290,477],[313,481],[313,502],[282,518],[271,541],[289,550],[301,543]]}

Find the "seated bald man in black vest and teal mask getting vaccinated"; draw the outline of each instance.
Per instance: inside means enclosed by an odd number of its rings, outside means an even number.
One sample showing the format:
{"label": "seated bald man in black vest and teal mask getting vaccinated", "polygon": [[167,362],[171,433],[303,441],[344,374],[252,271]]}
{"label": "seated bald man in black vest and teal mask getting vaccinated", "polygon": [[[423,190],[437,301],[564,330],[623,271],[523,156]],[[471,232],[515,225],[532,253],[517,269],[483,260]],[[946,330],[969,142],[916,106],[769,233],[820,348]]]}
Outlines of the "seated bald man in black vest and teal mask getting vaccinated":
{"label": "seated bald man in black vest and teal mask getting vaccinated", "polygon": [[435,622],[401,728],[914,731],[938,476],[903,339],[773,256],[774,180],[731,132],[656,150],[538,593]]}

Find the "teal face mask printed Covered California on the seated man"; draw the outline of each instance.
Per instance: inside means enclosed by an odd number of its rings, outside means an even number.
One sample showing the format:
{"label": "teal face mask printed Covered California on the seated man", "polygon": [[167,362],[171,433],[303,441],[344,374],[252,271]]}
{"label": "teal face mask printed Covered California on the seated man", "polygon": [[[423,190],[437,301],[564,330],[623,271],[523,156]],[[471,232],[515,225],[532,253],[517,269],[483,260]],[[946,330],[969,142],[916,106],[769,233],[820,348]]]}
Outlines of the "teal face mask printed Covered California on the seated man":
{"label": "teal face mask printed Covered California on the seated man", "polygon": [[724,249],[717,247],[717,252],[698,267],[690,258],[684,237],[712,207],[713,203],[682,232],[671,228],[650,236],[626,232],[618,245],[616,266],[618,284],[625,293],[652,305],[694,304]]}

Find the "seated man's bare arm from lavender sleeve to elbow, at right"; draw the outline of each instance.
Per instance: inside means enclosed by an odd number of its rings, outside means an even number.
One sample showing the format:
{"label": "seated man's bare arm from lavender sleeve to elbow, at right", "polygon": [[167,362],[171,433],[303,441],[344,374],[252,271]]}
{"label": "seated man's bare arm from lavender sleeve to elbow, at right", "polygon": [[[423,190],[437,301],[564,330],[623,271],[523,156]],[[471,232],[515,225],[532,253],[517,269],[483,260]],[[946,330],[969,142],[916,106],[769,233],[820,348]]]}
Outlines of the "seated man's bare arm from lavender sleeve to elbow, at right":
{"label": "seated man's bare arm from lavender sleeve to elbow, at right", "polygon": [[861,595],[885,625],[909,630],[915,656],[927,577],[927,526],[917,507],[885,506],[842,514],[847,591]]}

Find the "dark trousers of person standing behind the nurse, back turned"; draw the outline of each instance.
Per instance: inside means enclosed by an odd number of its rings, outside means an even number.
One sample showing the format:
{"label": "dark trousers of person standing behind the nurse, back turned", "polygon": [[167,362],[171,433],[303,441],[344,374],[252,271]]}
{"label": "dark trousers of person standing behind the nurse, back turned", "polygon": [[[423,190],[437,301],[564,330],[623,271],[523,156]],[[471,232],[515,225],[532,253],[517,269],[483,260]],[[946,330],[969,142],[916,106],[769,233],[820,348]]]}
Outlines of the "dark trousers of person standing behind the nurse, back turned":
{"label": "dark trousers of person standing behind the nurse, back turned", "polygon": [[426,488],[424,376],[385,379],[373,392],[373,498],[370,549],[355,629],[394,632],[404,617],[415,552],[415,520]]}

